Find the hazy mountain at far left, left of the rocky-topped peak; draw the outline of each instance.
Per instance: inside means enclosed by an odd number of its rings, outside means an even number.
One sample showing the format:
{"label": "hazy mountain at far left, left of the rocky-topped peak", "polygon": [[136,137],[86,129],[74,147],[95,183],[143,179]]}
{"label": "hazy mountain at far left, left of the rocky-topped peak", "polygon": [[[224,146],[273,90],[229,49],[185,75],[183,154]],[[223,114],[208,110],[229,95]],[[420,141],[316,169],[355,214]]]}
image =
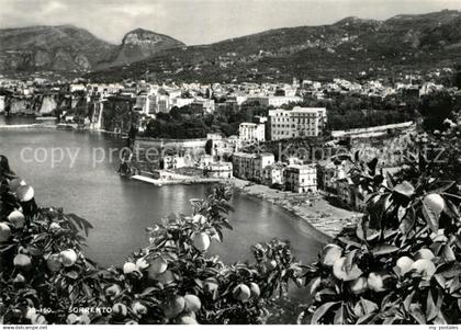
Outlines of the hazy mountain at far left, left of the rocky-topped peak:
{"label": "hazy mountain at far left, left of the rocky-topped peak", "polygon": [[0,30],[0,72],[85,71],[114,45],[72,25]]}

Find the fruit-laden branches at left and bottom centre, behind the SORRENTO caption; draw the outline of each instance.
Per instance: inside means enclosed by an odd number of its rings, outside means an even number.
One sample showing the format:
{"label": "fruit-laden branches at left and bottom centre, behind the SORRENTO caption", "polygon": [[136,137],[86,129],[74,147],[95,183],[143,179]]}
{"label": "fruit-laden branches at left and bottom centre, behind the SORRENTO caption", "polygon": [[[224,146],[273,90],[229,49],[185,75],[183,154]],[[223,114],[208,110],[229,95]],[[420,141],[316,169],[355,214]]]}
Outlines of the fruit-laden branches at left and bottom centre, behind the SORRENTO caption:
{"label": "fruit-laden branches at left and bottom centre, behind the SORRENTO caption", "polygon": [[29,212],[16,183],[3,180],[1,194],[4,323],[263,323],[269,298],[301,274],[279,240],[255,246],[251,264],[206,253],[232,229],[223,186],[192,201],[192,216],[148,228],[150,244],[122,268],[101,269],[81,251],[91,225],[61,209]]}

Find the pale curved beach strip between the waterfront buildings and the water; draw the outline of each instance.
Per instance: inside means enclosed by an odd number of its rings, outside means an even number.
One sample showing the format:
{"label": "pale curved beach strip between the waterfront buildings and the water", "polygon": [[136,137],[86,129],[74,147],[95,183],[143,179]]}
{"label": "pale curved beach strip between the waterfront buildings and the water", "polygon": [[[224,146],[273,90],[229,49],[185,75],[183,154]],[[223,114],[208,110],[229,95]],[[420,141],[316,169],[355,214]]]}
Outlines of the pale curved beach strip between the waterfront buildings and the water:
{"label": "pale curved beach strip between the waterfront buildings and the water", "polygon": [[266,185],[241,179],[232,179],[231,184],[239,191],[258,200],[276,204],[311,225],[331,240],[339,231],[357,223],[361,213],[351,212],[330,205],[319,193],[296,194],[282,192]]}

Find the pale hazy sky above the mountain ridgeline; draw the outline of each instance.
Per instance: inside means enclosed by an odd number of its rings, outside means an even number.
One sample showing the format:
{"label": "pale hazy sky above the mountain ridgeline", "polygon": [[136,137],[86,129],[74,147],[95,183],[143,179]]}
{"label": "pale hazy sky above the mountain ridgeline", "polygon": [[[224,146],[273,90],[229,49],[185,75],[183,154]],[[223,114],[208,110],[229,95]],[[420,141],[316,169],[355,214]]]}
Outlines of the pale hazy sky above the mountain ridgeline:
{"label": "pale hazy sky above the mountain ridgeline", "polygon": [[442,9],[461,10],[461,0],[0,0],[0,27],[74,24],[116,44],[144,27],[195,45],[350,15],[387,19]]}

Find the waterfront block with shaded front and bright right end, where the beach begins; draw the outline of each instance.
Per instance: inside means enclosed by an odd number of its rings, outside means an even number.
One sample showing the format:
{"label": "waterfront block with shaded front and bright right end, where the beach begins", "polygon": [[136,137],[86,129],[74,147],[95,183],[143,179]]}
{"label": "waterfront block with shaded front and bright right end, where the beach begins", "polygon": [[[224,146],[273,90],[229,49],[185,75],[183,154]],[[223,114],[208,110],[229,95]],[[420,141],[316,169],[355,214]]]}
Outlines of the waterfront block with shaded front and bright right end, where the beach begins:
{"label": "waterfront block with shaded front and bright right end, where the beach begins", "polygon": [[234,177],[262,182],[262,170],[274,163],[276,158],[272,153],[247,153],[235,152],[232,157],[234,166]]}

